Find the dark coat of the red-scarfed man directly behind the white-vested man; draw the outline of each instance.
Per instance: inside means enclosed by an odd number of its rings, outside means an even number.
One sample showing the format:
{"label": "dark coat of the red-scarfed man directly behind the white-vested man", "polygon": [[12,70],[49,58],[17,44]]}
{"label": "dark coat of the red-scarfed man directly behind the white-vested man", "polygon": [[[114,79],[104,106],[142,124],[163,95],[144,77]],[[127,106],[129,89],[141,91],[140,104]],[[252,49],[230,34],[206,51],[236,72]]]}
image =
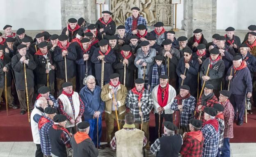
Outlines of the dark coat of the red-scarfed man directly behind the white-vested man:
{"label": "dark coat of the red-scarfed man directly behind the white-vested man", "polygon": [[[77,53],[75,51],[75,46],[69,45],[68,47],[68,55],[66,55],[66,68],[67,68],[67,78],[75,77],[76,75],[76,65],[75,60],[77,58]],[[65,79],[65,60],[62,57],[62,49],[59,46],[55,47],[53,60],[57,66],[56,77]]]}

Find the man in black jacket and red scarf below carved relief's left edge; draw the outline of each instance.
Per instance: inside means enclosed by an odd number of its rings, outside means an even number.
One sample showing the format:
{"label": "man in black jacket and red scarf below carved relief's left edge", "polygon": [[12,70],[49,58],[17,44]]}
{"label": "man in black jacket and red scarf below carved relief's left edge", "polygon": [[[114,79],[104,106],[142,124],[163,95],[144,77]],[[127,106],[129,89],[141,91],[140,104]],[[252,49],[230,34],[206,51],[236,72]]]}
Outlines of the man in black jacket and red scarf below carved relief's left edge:
{"label": "man in black jacket and red scarf below carved relief's left edge", "polygon": [[114,35],[116,33],[116,22],[111,18],[110,11],[102,11],[101,18],[96,22],[96,27],[103,35]]}

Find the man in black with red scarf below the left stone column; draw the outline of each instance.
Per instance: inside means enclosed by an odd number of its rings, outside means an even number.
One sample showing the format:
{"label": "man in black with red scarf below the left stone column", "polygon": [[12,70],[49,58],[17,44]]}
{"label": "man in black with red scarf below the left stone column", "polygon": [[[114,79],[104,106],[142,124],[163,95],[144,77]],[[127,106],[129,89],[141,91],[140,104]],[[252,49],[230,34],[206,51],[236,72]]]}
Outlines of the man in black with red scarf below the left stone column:
{"label": "man in black with red scarf below the left stone column", "polygon": [[64,27],[62,29],[62,35],[68,35],[69,42],[75,38],[78,31],[83,31],[83,29],[77,24],[77,20],[75,18],[70,18],[68,20],[68,28]]}

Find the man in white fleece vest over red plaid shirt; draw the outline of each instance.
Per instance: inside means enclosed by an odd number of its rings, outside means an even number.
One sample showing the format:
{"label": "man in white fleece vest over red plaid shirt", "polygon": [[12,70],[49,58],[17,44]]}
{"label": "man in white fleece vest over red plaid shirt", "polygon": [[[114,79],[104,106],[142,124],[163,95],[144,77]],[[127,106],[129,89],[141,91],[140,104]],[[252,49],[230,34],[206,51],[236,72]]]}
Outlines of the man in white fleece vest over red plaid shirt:
{"label": "man in white fleece vest over red plaid shirt", "polygon": [[62,94],[58,97],[59,113],[65,115],[69,120],[65,128],[71,133],[76,133],[76,125],[82,122],[81,117],[85,111],[84,103],[77,92],[73,91],[70,82],[62,84]]}

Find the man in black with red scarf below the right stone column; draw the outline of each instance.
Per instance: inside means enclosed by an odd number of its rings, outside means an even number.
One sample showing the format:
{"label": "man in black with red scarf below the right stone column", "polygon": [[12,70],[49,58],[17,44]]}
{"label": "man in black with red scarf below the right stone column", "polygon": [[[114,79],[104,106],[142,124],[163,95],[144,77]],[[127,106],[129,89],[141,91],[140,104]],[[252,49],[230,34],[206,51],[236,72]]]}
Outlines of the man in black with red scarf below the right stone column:
{"label": "man in black with red scarf below the right stone column", "polygon": [[193,52],[197,52],[198,44],[207,45],[207,41],[205,38],[203,38],[203,33],[201,29],[195,29],[193,33],[194,35],[187,41],[187,46],[189,46]]}

